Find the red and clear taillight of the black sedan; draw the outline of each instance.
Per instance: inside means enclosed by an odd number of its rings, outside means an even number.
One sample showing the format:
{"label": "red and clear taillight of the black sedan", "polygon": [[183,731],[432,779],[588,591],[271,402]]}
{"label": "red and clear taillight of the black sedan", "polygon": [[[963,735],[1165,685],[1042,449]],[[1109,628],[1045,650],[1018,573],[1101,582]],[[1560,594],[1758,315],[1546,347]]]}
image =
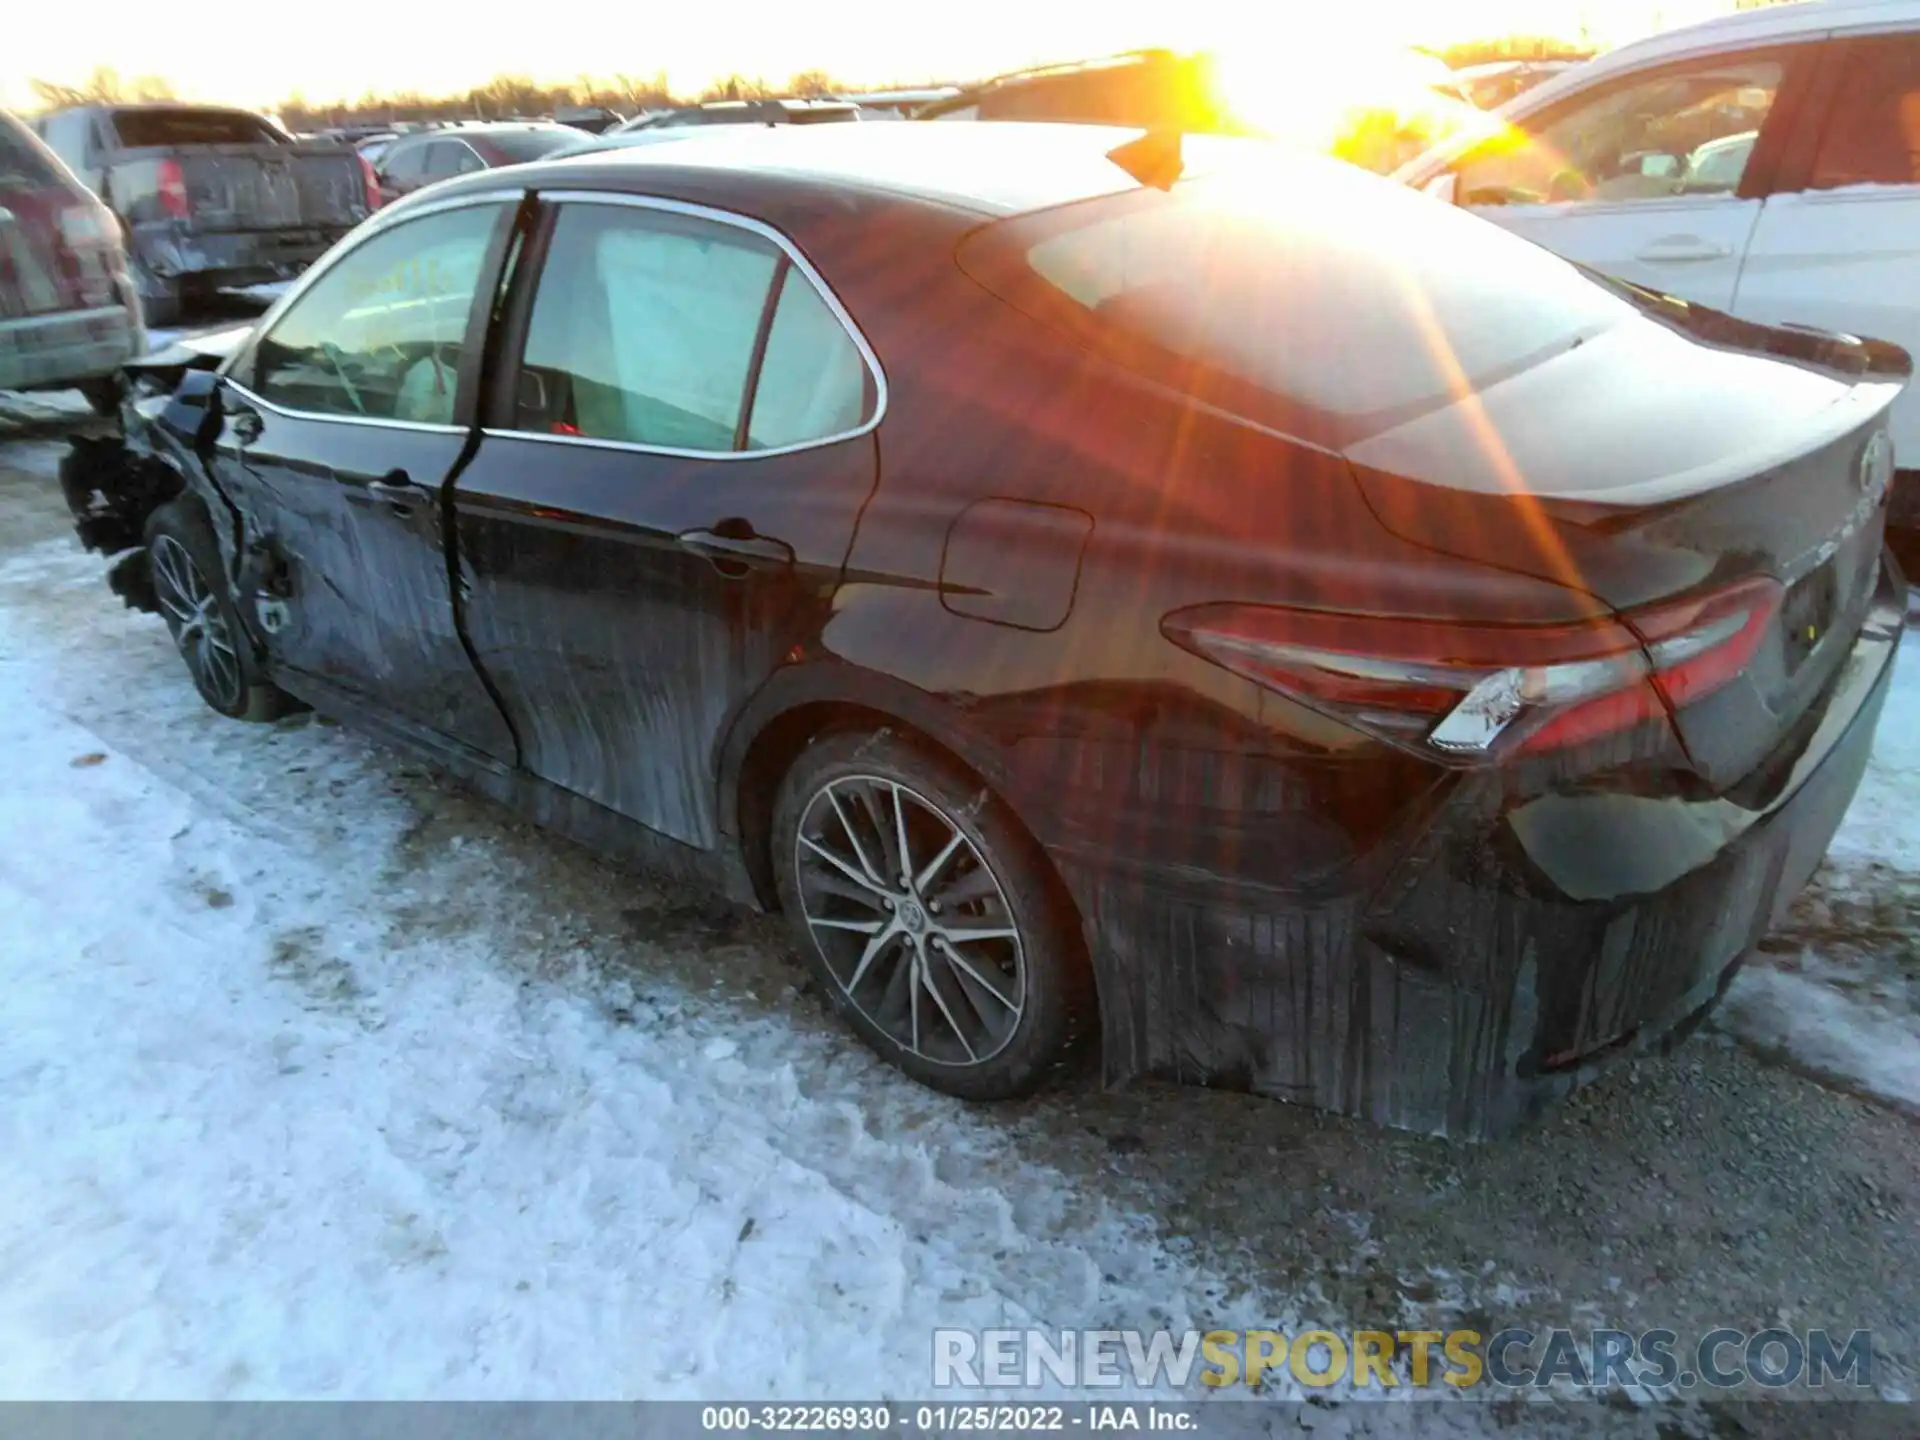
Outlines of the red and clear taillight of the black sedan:
{"label": "red and clear taillight of the black sedan", "polygon": [[1780,609],[1749,580],[1622,620],[1555,626],[1396,620],[1202,605],[1165,634],[1380,739],[1473,764],[1563,751],[1730,684]]}

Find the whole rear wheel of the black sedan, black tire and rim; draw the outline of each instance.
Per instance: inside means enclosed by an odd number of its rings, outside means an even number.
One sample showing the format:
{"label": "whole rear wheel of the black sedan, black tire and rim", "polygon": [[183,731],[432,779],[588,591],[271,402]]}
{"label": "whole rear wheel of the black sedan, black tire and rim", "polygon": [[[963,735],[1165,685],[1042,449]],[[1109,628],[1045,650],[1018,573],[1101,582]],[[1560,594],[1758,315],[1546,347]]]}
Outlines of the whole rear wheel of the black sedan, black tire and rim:
{"label": "whole rear wheel of the black sedan, black tire and rim", "polygon": [[[950,858],[925,883],[899,885],[902,841],[876,816],[906,831],[908,868],[935,872],[943,849]],[[803,828],[852,868],[803,845]],[[808,970],[881,1058],[964,1100],[1027,1094],[1068,1058],[1092,1014],[1079,929],[1039,847],[991,789],[893,730],[831,732],[781,781],[772,845]]]}

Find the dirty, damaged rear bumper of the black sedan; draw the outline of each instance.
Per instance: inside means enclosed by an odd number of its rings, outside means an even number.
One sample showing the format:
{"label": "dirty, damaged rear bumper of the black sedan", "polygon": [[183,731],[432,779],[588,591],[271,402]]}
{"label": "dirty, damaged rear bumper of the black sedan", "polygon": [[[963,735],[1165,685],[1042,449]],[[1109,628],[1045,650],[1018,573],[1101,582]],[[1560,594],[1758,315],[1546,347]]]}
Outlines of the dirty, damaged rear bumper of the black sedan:
{"label": "dirty, damaged rear bumper of the black sedan", "polygon": [[1465,1139],[1684,1037],[1812,876],[1905,624],[1882,564],[1824,703],[1732,793],[1463,781],[1386,877],[1290,899],[1056,854],[1087,916],[1110,1081],[1152,1073]]}

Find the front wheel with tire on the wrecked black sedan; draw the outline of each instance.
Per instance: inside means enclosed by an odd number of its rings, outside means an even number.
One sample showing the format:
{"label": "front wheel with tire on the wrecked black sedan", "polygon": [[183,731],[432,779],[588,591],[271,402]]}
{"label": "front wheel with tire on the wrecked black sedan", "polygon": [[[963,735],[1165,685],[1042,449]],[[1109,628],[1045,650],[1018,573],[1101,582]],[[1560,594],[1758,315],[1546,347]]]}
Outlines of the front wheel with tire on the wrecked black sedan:
{"label": "front wheel with tire on the wrecked black sedan", "polygon": [[209,707],[234,720],[278,720],[300,708],[267,680],[228,593],[219,545],[190,499],[173,499],[146,520],[154,597],[175,647]]}

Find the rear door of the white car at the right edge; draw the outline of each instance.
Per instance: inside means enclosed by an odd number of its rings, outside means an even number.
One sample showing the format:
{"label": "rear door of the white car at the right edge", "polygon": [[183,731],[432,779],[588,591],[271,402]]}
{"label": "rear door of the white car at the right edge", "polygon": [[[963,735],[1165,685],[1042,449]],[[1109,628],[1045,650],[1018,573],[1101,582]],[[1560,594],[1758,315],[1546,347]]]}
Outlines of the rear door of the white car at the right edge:
{"label": "rear door of the white car at the right edge", "polygon": [[[1836,40],[1830,77],[1761,213],[1734,313],[1920,355],[1920,33]],[[1893,445],[1920,467],[1920,390],[1895,403]]]}

